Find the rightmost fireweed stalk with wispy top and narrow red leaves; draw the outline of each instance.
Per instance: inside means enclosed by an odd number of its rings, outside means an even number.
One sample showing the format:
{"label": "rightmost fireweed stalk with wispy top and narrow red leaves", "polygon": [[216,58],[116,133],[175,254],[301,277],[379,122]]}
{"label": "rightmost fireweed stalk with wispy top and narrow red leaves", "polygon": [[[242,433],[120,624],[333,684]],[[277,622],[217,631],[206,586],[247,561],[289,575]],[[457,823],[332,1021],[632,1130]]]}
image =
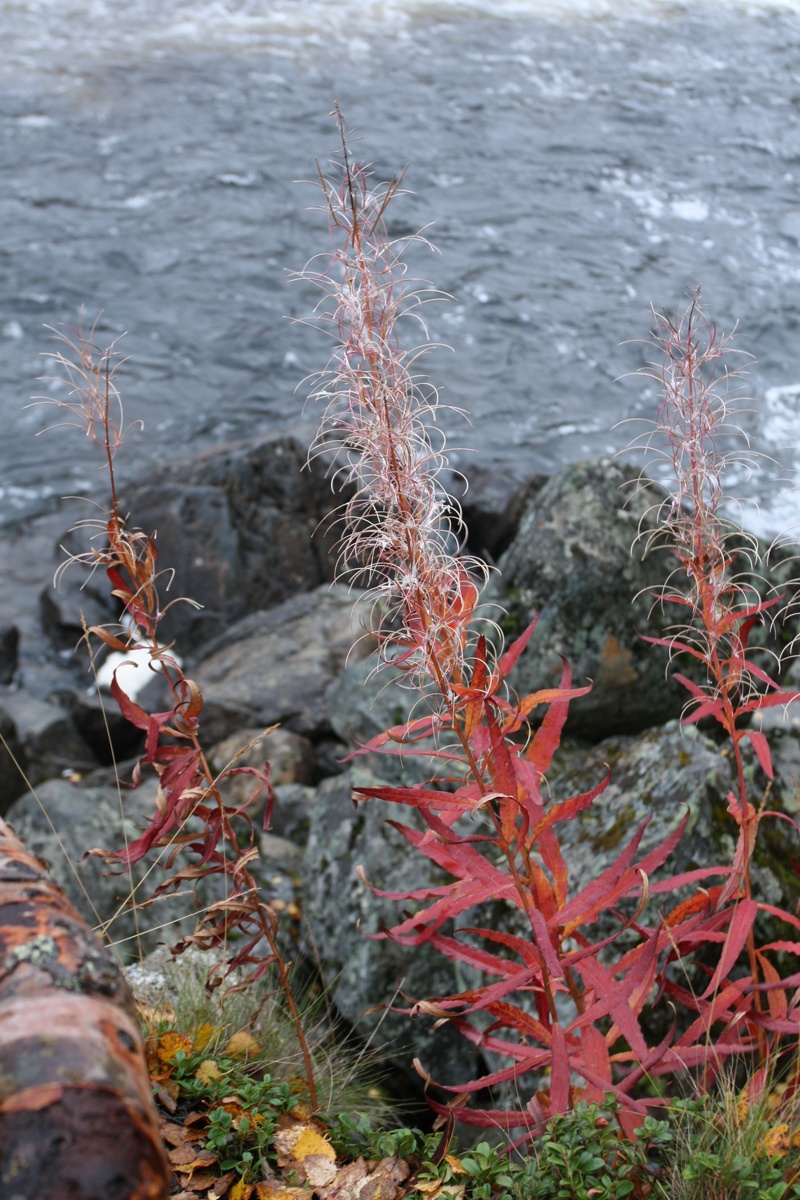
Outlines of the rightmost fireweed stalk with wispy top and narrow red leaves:
{"label": "rightmost fireweed stalk with wispy top and narrow red leaves", "polygon": [[[668,496],[656,512],[656,528],[646,535],[648,547],[666,546],[676,569],[656,593],[660,602],[682,610],[669,637],[646,638],[666,646],[670,655],[688,654],[700,666],[700,682],[675,672],[690,694],[686,724],[712,718],[723,728],[733,749],[736,791],[728,796],[728,811],[739,827],[732,871],[717,889],[715,908],[738,904],[736,918],[726,934],[723,961],[730,965],[746,946],[753,982],[772,979],[774,968],[756,949],[753,923],[758,905],[752,896],[751,859],[756,847],[763,805],[756,808],[747,794],[742,743],[750,740],[769,779],[772,760],[764,733],[750,727],[753,713],[795,698],[752,656],[748,637],[763,623],[778,598],[762,599],[756,583],[760,565],[758,542],[726,514],[730,500],[724,476],[732,467],[750,468],[753,454],[736,416],[735,382],[740,372],[728,370],[730,340],[721,336],[706,318],[696,293],[674,318],[652,312],[657,361],[644,372],[656,379],[662,401],[651,430],[638,439],[649,455],[666,460],[670,479]],[[724,449],[724,444],[732,449]],[[634,443],[637,444],[637,443]],[[742,450],[744,445],[744,450]],[[770,973],[771,971],[771,973]],[[715,973],[712,983],[722,979]],[[758,990],[752,996],[753,1014],[762,1012]],[[766,1054],[764,1028],[758,1025],[762,1060]]]}

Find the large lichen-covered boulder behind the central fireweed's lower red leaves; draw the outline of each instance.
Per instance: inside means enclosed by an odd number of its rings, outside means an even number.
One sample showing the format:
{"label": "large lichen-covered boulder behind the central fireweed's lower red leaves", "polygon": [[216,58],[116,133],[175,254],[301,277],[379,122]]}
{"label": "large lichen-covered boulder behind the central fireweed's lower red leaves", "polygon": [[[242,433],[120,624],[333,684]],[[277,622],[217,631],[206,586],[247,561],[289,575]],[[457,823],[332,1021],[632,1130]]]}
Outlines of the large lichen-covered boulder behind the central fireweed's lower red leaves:
{"label": "large lichen-covered boulder behind the central fireweed's lower red leaves", "polygon": [[[794,800],[790,792],[793,776],[800,769],[800,736],[787,737],[792,740],[783,745],[776,740],[781,774],[770,804],[795,815],[796,792]],[[727,810],[727,797],[734,786],[734,772],[730,757],[709,737],[673,721],[639,736],[609,738],[591,749],[566,744],[548,775],[553,802],[591,788],[603,778],[607,766],[612,769],[612,781],[606,791],[576,820],[558,826],[571,895],[596,880],[648,818],[640,857],[661,845],[688,816],[676,851],[650,883],[680,871],[730,864],[736,827]],[[753,761],[747,762],[746,774],[756,800],[765,780]],[[363,883],[359,868],[371,883],[384,890],[426,889],[444,882],[437,868],[413,851],[387,823],[390,820],[413,823],[411,809],[378,800],[354,808],[353,787],[374,782],[374,775],[355,766],[318,788],[305,859],[305,916],[325,977],[331,980],[331,998],[342,1014],[362,1032],[375,1033],[379,1043],[390,1042],[391,1055],[399,1062],[408,1063],[416,1055],[434,1079],[464,1081],[480,1072],[481,1063],[469,1044],[450,1028],[433,1031],[423,1018],[409,1021],[396,1013],[384,1014],[379,1026],[380,1006],[402,1003],[397,997],[398,980],[403,992],[414,1000],[459,991],[473,980],[429,947],[410,949],[374,937],[398,922],[401,905],[377,898]],[[762,823],[752,865],[758,899],[793,907],[796,875],[792,859],[799,853],[800,835],[787,822]],[[657,918],[676,899],[670,892],[651,898],[648,916]],[[634,907],[636,900],[631,902]],[[529,936],[523,916],[503,901],[491,901],[462,914],[459,924],[486,924]],[[603,914],[588,934],[601,938],[618,925],[619,918]],[[770,936],[772,931],[765,928],[762,934]],[[648,1016],[654,1036],[661,1028],[658,1020],[658,1014]]]}

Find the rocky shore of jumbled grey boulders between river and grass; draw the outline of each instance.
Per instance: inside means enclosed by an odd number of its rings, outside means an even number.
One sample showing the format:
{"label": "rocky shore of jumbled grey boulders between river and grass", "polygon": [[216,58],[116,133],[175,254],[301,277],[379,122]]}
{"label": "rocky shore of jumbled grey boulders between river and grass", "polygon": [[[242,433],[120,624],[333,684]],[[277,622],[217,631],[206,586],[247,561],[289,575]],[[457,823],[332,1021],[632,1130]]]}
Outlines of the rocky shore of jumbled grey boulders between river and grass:
{"label": "rocky shore of jumbled grey boulders between river and grass", "polygon": [[[410,697],[373,673],[369,598],[332,583],[336,500],[323,467],[302,469],[305,457],[291,438],[225,446],[174,464],[168,480],[130,487],[124,508],[133,523],[157,529],[160,565],[175,572],[170,598],[203,605],[173,607],[167,634],[203,691],[203,740],[212,764],[223,768],[265,728],[279,726],[242,761],[271,762],[277,800],[271,828],[260,835],[257,877],[282,914],[289,956],[314,964],[341,1016],[361,1033],[380,1022],[377,1039],[398,1063],[416,1055],[434,1076],[474,1078],[473,1051],[455,1033],[450,1040],[443,1031],[432,1037],[422,1020],[381,1020],[368,1012],[390,1002],[398,986],[423,996],[461,984],[433,952],[411,954],[365,936],[380,930],[392,906],[368,892],[357,868],[384,889],[433,881],[426,877],[431,864],[411,857],[386,824],[397,815],[389,811],[393,806],[356,810],[353,784],[408,779],[425,764],[377,755],[343,762],[354,744],[402,721]],[[511,498],[480,486],[469,493],[470,548],[500,569],[489,586],[497,606],[491,614],[507,636],[540,614],[512,677],[517,690],[558,683],[561,655],[576,684],[594,682],[591,694],[572,706],[548,780],[552,794],[565,798],[597,782],[606,764],[612,768],[610,786],[566,827],[575,884],[596,876],[648,814],[645,842],[656,845],[688,809],[676,869],[708,865],[714,856],[729,860],[733,851],[730,763],[712,731],[679,727],[685,692],[667,678],[666,653],[642,640],[662,635],[672,620],[648,594],[670,568],[664,552],[644,562],[631,553],[658,498],[654,485],[626,487],[634,475],[625,464],[597,460],[531,479]],[[127,877],[109,876],[97,858],[82,857],[136,836],[155,803],[155,781],[120,796],[113,760],[126,764],[121,778],[130,778],[138,734],[97,695],[78,644],[82,612],[89,624],[116,616],[104,577],[86,580],[76,566],[59,592],[42,581],[58,563],[59,545],[85,548],[85,534],[67,532],[70,520],[62,509],[7,530],[0,547],[0,732],[11,751],[0,755],[0,814],[50,862],[89,922],[134,958],[169,941],[191,901],[173,898],[144,910],[137,929],[131,913],[120,911]],[[776,571],[790,576],[783,560]],[[158,704],[157,677],[140,700]],[[777,769],[770,806],[798,816],[800,720],[771,712],[764,721]],[[758,796],[766,781],[754,762],[747,769]],[[754,868],[764,899],[794,907],[792,858],[799,853],[787,822],[764,823]],[[140,934],[151,926],[164,928]]]}

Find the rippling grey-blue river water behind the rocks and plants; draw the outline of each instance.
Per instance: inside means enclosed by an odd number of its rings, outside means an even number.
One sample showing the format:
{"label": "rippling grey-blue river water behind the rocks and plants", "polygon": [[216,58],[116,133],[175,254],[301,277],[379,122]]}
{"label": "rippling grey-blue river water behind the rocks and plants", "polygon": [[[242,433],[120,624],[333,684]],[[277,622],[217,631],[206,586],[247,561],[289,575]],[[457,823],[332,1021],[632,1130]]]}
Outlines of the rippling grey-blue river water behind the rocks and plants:
{"label": "rippling grey-blue river water behind the rocks and plants", "polygon": [[[289,286],[338,100],[420,274],[458,466],[500,493],[651,413],[648,305],[702,284],[753,354],[759,446],[800,462],[800,5],[636,0],[0,0],[0,522],[102,487],[35,434],[44,325],[124,331],[122,473],[285,427],[325,340]],[[300,422],[300,424],[299,424]],[[766,476],[759,527],[800,514]],[[750,521],[754,523],[754,518]]]}

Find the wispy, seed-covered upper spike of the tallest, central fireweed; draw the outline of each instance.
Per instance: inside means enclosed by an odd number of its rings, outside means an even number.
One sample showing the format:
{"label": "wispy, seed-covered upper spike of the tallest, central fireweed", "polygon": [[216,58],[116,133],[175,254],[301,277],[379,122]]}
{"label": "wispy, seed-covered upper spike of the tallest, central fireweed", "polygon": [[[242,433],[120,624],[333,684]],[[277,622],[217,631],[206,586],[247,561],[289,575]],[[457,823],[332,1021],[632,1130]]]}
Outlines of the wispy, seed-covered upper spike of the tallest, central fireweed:
{"label": "wispy, seed-covered upper spike of the tallest, central fireweed", "polygon": [[[385,214],[402,176],[373,185],[350,161],[341,113],[341,176],[320,170],[333,253],[326,270],[300,277],[325,293],[315,320],[332,329],[336,349],[312,394],[324,403],[312,452],[337,451],[339,473],[355,484],[342,512],[339,566],[363,580],[380,601],[384,661],[433,680],[446,698],[463,678],[468,628],[486,568],[453,551],[462,533],[458,504],[440,484],[447,466],[435,431],[435,389],[416,374],[423,344],[403,349],[398,325],[415,318],[425,294],[405,281],[408,239],[390,239]],[[439,445],[432,442],[439,433]]]}

